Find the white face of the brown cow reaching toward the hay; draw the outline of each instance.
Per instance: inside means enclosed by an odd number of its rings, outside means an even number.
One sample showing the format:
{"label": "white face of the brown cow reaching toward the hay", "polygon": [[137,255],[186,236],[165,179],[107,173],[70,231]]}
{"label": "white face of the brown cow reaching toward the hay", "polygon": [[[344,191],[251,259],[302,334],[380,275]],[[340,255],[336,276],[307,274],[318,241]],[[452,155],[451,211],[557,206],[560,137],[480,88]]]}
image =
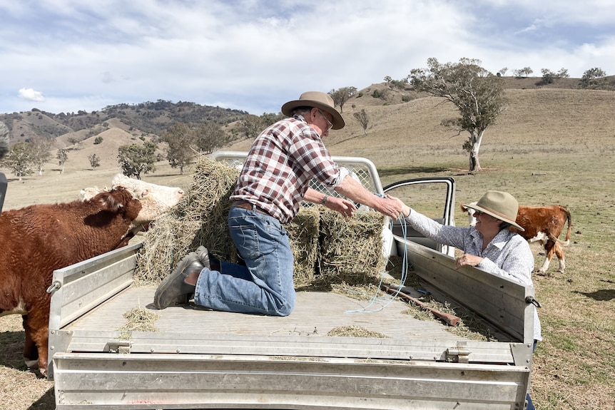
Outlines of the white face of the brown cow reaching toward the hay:
{"label": "white face of the brown cow reaching toward the hay", "polygon": [[126,188],[132,193],[133,198],[141,203],[141,211],[133,221],[133,225],[143,225],[156,220],[164,212],[177,205],[184,194],[181,188],[146,183],[142,180],[128,178],[123,174],[118,174],[113,178],[113,188],[118,187]]}

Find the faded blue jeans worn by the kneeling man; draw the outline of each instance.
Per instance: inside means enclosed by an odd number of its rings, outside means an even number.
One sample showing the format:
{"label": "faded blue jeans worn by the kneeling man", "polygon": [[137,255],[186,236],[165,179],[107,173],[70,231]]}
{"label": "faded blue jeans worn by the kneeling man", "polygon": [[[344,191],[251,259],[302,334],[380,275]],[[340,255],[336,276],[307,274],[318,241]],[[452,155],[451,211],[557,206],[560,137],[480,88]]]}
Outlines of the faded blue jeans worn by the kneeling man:
{"label": "faded blue jeans worn by the kneeling man", "polygon": [[287,316],[295,307],[293,251],[275,217],[230,208],[228,228],[245,266],[220,261],[220,272],[204,268],[194,302],[226,312]]}

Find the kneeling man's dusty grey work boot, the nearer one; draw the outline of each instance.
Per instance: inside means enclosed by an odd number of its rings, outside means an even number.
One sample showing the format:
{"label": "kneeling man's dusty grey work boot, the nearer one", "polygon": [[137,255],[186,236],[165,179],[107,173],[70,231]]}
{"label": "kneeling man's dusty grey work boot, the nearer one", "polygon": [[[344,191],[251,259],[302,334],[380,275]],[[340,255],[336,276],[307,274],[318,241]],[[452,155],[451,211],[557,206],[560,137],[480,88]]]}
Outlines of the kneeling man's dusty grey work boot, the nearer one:
{"label": "kneeling man's dusty grey work boot, the nearer one", "polygon": [[156,289],[156,294],[154,294],[156,309],[165,309],[179,297],[183,297],[184,300],[186,296],[189,297],[194,292],[195,287],[184,282],[184,280],[191,273],[201,270],[203,270],[203,262],[200,262],[196,252],[185,255],[175,270],[171,272],[171,275],[164,278]]}

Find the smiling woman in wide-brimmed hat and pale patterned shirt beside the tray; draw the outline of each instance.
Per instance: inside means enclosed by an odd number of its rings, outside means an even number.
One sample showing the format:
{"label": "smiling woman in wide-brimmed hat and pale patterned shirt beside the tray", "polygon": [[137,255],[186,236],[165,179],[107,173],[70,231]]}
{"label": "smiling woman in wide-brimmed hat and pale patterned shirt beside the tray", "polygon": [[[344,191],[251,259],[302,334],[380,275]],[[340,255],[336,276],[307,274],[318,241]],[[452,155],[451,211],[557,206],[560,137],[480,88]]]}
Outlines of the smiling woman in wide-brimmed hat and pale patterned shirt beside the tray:
{"label": "smiling woman in wide-brimmed hat and pale patterned shirt beside the tray", "polygon": [[[398,198],[389,198],[402,203]],[[477,222],[473,227],[442,225],[412,210],[404,203],[402,203],[402,215],[425,237],[462,250],[464,253],[455,260],[455,267],[476,266],[494,275],[533,286],[532,250],[521,235],[508,229],[512,225],[524,230],[515,222],[519,209],[517,200],[509,193],[488,191],[475,205],[464,206],[474,210]],[[534,349],[538,340],[542,340],[541,327],[538,314],[534,311]],[[527,401],[527,409],[534,409],[529,394]]]}

